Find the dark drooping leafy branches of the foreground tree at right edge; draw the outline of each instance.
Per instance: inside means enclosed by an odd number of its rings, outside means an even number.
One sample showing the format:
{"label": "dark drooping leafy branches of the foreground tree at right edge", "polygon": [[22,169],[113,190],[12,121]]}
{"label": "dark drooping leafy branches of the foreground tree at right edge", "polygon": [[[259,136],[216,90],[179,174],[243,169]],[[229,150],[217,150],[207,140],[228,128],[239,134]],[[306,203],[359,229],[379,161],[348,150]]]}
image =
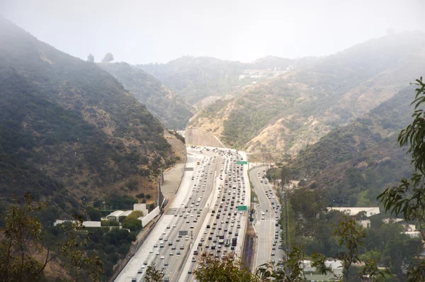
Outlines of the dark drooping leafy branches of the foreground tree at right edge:
{"label": "dark drooping leafy branches of the foreground tree at right edge", "polygon": [[[414,105],[413,121],[402,130],[398,136],[400,147],[407,146],[407,153],[412,154],[412,163],[415,173],[410,179],[402,178],[400,184],[387,188],[378,196],[384,205],[385,211],[403,215],[406,220],[416,221],[425,242],[425,84],[416,79],[414,85],[416,96],[411,105]],[[425,261],[419,257],[416,266],[409,269],[407,277],[412,281],[425,280]]]}

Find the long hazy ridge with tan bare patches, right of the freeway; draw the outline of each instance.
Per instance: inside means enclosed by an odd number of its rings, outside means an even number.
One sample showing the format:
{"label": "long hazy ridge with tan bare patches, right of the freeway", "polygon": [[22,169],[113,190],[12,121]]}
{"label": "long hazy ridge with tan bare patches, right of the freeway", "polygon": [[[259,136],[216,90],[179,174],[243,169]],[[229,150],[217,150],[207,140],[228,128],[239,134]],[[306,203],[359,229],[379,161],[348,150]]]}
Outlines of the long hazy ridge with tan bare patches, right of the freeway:
{"label": "long hazy ridge with tan bare patches, right of the freeway", "polygon": [[424,38],[415,32],[369,40],[216,101],[190,125],[251,152],[297,154],[419,77]]}

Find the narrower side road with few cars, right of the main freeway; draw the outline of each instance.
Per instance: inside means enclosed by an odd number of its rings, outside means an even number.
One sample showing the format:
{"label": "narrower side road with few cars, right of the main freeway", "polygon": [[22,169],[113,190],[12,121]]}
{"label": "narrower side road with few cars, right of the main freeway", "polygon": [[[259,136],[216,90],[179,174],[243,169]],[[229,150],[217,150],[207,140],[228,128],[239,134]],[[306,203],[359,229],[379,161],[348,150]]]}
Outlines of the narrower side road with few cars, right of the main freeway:
{"label": "narrower side road with few cars, right of the main freeway", "polygon": [[280,217],[280,204],[267,179],[266,167],[257,167],[249,171],[249,178],[258,197],[254,227],[258,236],[255,267],[268,261],[279,261],[283,258],[280,249],[280,226],[276,226]]}

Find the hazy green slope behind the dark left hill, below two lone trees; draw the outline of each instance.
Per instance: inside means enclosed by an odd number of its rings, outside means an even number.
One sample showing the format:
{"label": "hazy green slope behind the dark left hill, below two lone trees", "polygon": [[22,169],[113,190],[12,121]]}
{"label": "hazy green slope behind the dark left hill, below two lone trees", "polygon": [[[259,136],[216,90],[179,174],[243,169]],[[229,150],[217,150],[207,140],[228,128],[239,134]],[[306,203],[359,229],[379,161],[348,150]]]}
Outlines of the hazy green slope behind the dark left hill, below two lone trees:
{"label": "hazy green slope behind the dark left hill, below two lone trees", "polygon": [[137,69],[124,62],[101,63],[98,66],[118,79],[125,89],[130,91],[137,101],[145,104],[152,115],[164,123],[167,128],[182,130],[192,117],[191,106],[142,69]]}

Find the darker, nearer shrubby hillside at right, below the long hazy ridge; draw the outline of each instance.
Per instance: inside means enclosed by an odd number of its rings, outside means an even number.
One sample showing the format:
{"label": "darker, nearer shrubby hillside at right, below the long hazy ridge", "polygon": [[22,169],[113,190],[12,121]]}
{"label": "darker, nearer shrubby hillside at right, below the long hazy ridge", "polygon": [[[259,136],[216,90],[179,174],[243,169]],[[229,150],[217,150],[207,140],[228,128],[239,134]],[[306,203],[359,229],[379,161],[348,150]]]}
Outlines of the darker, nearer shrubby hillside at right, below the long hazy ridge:
{"label": "darker, nearer shrubby hillside at right, below the long hazy ridge", "polygon": [[370,113],[332,130],[290,162],[297,179],[310,188],[325,188],[329,203],[376,205],[384,188],[413,172],[400,148],[400,130],[412,121],[414,87],[403,89]]}

